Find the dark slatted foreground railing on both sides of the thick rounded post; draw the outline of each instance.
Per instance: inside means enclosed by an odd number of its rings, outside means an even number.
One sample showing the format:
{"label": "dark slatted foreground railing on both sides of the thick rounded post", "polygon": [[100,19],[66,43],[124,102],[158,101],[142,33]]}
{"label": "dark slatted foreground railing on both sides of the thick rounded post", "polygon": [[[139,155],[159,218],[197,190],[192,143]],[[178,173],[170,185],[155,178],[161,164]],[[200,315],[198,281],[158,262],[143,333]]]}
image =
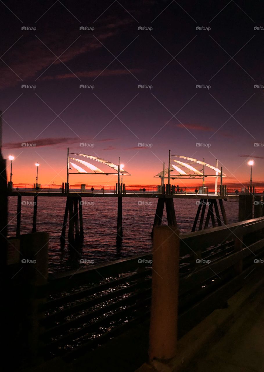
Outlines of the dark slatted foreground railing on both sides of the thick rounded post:
{"label": "dark slatted foreground railing on both sides of the thick rounded post", "polygon": [[[261,217],[180,235],[179,337],[224,306],[261,264],[256,260],[264,256],[263,230]],[[40,310],[41,354],[72,358],[148,319],[151,264],[149,254],[52,276]]]}

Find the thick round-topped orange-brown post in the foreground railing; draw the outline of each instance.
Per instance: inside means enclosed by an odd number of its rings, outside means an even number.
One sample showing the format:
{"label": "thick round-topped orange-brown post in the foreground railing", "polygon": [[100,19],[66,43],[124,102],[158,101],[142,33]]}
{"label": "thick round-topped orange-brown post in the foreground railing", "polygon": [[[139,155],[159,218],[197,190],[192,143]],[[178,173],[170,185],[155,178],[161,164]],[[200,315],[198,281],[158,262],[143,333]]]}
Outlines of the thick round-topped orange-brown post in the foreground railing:
{"label": "thick round-topped orange-brown post in the foreground railing", "polygon": [[156,226],[153,240],[152,298],[149,331],[149,359],[168,360],[176,355],[179,231]]}

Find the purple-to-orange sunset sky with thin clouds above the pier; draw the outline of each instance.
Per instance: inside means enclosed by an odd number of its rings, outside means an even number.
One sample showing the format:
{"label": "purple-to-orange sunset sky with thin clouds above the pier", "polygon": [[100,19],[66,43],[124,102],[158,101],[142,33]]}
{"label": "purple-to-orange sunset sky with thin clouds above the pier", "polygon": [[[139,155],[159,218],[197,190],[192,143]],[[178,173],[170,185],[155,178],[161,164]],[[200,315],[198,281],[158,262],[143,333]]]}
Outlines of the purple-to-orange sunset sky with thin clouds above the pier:
{"label": "purple-to-orange sunset sky with thin clouds above the pier", "polygon": [[169,149],[218,158],[234,187],[249,184],[253,159],[253,184],[264,185],[261,1],[10,0],[0,10],[3,155],[15,156],[15,184],[35,182],[36,161],[40,183],[65,182],[69,147],[120,157],[131,185],[159,184]]}

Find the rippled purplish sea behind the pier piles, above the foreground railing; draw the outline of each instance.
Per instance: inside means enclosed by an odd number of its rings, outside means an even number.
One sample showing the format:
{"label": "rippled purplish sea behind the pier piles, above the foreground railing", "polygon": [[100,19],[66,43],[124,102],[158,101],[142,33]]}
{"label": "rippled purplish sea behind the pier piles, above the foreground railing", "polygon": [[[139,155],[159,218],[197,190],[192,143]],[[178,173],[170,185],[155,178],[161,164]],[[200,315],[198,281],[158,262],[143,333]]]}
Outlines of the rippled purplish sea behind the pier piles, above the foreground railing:
{"label": "rippled purplish sea behind the pier piles, above the foreground railing", "polygon": [[[38,198],[37,231],[47,231],[49,241],[49,272],[78,270],[89,264],[80,259],[94,260],[94,264],[109,262],[151,251],[151,229],[157,199],[123,198],[123,244],[116,247],[117,199],[82,198],[84,244],[81,250],[60,246],[66,198]],[[91,201],[93,205],[88,204]],[[16,197],[9,197],[9,236],[16,231]],[[143,202],[143,204],[138,204]],[[147,204],[144,204],[146,202]],[[152,204],[148,204],[152,202]],[[22,197],[21,234],[32,232],[33,198]],[[87,204],[85,204],[87,203]],[[224,202],[228,223],[238,221],[238,202]],[[181,232],[190,232],[197,211],[196,200],[174,199],[177,224]],[[166,214],[164,213],[166,223]],[[67,232],[66,232],[67,234]],[[66,235],[67,236],[67,235]]]}

